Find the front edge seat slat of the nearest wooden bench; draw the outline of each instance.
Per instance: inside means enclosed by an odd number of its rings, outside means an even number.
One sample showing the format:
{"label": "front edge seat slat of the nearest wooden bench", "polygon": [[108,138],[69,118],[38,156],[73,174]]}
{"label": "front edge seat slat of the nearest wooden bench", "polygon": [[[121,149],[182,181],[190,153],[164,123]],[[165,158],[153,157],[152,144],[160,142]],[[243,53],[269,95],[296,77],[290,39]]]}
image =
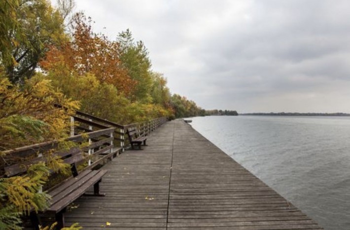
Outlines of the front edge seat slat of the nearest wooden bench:
{"label": "front edge seat slat of the nearest wooden bench", "polygon": [[68,204],[73,202],[75,199],[80,197],[85,193],[85,191],[92,185],[94,185],[97,181],[99,181],[104,175],[107,173],[107,170],[100,170],[98,173],[96,173],[93,177],[91,177],[88,181],[86,181],[83,185],[81,185],[78,189],[74,190],[72,193],[64,197],[63,199],[59,200],[58,202],[54,203],[47,209],[49,212],[58,213],[65,207],[67,207]]}

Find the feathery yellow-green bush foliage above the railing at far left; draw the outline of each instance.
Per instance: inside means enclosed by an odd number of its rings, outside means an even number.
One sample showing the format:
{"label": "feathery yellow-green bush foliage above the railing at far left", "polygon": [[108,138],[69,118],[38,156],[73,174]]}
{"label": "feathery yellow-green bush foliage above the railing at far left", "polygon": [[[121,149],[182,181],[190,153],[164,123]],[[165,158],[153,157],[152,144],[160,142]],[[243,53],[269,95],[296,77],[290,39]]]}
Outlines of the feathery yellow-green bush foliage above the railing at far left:
{"label": "feathery yellow-green bush foliage above the railing at far left", "polygon": [[78,106],[42,75],[27,80],[20,88],[0,72],[0,149],[67,137],[69,115]]}

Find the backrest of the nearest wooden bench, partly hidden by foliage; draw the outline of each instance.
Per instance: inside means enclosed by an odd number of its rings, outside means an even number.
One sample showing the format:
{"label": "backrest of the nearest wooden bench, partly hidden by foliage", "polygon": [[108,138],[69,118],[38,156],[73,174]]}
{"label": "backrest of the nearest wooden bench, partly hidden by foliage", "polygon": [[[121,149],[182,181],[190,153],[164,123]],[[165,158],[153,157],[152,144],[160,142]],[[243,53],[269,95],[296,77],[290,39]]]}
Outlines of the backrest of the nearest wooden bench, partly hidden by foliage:
{"label": "backrest of the nearest wooden bench, partly hidden by foliage", "polygon": [[[77,147],[73,147],[68,151],[62,151],[62,152],[55,152],[53,153],[53,156],[57,156],[62,158],[62,160],[71,165],[71,170],[72,170],[72,174],[73,176],[77,176],[77,170],[76,170],[76,163],[79,163],[83,160],[84,156],[82,151],[77,148]],[[46,157],[37,157],[25,162],[21,162],[19,164],[13,164],[10,166],[6,166],[4,167],[4,171],[5,171],[5,176],[6,177],[11,177],[11,176],[15,176],[18,174],[22,174],[24,172],[26,172],[28,170],[28,168],[33,165],[33,164],[37,164],[39,162],[47,162],[47,158]]]}

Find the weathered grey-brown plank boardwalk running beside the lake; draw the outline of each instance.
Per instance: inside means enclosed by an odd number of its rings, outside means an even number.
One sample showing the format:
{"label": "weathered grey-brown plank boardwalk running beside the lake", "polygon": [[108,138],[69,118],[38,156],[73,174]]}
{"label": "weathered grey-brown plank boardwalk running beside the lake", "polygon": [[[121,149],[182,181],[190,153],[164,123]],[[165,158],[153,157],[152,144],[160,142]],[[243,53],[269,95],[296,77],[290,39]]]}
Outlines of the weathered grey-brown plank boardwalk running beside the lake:
{"label": "weathered grey-brown plank boardwalk running beside the lake", "polygon": [[[68,225],[125,230],[322,229],[183,121],[106,164],[105,197],[81,197]],[[108,222],[108,223],[107,223]],[[108,226],[108,224],[110,224]]]}

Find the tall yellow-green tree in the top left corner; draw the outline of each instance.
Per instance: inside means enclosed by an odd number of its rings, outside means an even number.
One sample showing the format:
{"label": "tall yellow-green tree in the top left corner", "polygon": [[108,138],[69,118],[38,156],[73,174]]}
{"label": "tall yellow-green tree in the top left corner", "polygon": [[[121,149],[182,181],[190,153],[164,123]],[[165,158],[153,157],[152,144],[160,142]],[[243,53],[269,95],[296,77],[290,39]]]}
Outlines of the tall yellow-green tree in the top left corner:
{"label": "tall yellow-green tree in the top left corner", "polygon": [[60,12],[46,0],[1,1],[0,49],[12,83],[35,74],[50,44],[67,40]]}

